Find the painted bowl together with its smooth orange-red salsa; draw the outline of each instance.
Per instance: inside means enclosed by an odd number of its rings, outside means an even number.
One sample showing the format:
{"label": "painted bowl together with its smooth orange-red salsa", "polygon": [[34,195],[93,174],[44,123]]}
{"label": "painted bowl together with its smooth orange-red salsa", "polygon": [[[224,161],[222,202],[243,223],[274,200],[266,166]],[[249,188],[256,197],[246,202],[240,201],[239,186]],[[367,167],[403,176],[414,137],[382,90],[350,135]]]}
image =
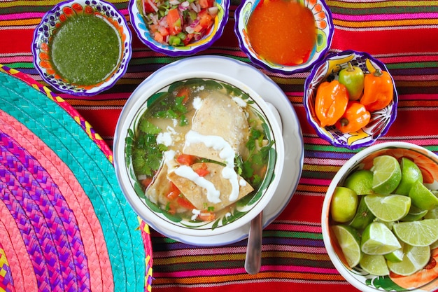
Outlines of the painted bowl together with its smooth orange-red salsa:
{"label": "painted bowl together with its smooth orange-red salsa", "polygon": [[[288,1],[246,0],[241,1],[241,4],[234,13],[236,20],[234,32],[239,40],[239,47],[243,53],[246,53],[249,60],[262,69],[288,75],[306,71],[318,60],[321,60],[325,53],[327,53],[327,50],[330,49],[334,34],[332,13],[325,4],[325,1],[304,0],[289,2],[291,3],[288,3]],[[255,16],[255,11],[261,5],[269,4],[290,4],[304,6],[304,9],[297,9],[295,6],[269,7],[266,13],[274,13],[274,15],[260,15],[260,18],[252,20],[253,23],[250,24],[251,17],[258,17],[258,15]],[[260,9],[258,10],[260,11]],[[283,11],[288,11],[288,13],[282,13]],[[307,14],[307,17],[301,18],[300,15],[295,14],[291,16],[295,11],[304,11],[304,15]],[[277,23],[283,20],[278,18],[276,13],[282,14],[285,17],[284,21],[290,23]],[[302,21],[299,22],[298,19]],[[269,21],[266,22],[266,20]],[[304,20],[310,22],[308,23],[309,26],[302,24]],[[253,33],[250,32],[250,29]],[[285,29],[290,29],[290,32]],[[253,36],[255,41],[251,41],[251,36]],[[291,39],[292,36],[293,39]],[[274,39],[268,40],[268,37],[274,37]],[[304,41],[305,39],[308,40]],[[304,46],[304,48],[293,48],[297,44],[302,43],[306,43],[307,46]],[[269,45],[271,48],[265,45]],[[288,57],[282,59],[280,55],[288,55]],[[286,64],[285,62],[288,63]]]}

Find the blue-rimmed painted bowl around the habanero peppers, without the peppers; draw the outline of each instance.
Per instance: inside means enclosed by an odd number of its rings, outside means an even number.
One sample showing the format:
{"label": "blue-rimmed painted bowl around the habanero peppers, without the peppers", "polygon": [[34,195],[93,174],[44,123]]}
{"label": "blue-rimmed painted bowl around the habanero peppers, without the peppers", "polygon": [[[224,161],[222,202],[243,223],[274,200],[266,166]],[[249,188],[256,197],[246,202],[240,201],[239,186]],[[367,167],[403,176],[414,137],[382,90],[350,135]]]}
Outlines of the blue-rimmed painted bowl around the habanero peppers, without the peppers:
{"label": "blue-rimmed painted bowl around the habanero peppers, without the peppers", "polygon": [[327,55],[321,62],[315,64],[304,83],[304,109],[311,126],[316,130],[319,137],[330,142],[333,146],[348,149],[357,149],[373,144],[383,137],[397,117],[398,95],[392,76],[393,100],[383,109],[372,111],[369,123],[357,132],[344,133],[335,125],[321,127],[316,115],[316,92],[318,86],[325,81],[333,81],[339,78],[339,71],[348,67],[348,62],[362,69],[363,73],[372,74],[376,69],[387,71],[385,64],[372,57],[368,53],[346,50],[341,53]]}

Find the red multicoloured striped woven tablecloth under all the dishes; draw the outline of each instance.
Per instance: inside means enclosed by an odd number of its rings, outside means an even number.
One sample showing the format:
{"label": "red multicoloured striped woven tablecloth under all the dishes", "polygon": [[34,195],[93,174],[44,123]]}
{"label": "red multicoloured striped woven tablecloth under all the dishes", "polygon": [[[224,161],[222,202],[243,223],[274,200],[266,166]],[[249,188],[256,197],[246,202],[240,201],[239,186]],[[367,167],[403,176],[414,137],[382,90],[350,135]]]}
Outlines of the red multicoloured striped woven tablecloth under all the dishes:
{"label": "red multicoloured striped woven tablecloth under all the dishes", "polygon": [[[31,62],[33,29],[57,2],[0,1],[0,64],[41,81]],[[111,2],[129,19],[128,1]],[[335,27],[330,52],[365,51],[384,62],[395,79],[400,98],[397,120],[377,143],[409,141],[438,153],[438,1],[326,2]],[[198,55],[249,62],[233,31],[238,4],[232,2],[222,38]],[[136,36],[133,51],[127,74],[111,90],[96,97],[59,94],[110,147],[115,123],[130,93],[153,71],[178,60],[154,53]],[[249,275],[243,268],[246,240],[199,247],[151,230],[153,291],[355,291],[327,256],[320,210],[332,177],[360,149],[330,146],[307,123],[302,96],[309,72],[292,76],[263,72],[278,83],[297,112],[304,136],[304,166],[291,202],[264,229],[260,273]]]}

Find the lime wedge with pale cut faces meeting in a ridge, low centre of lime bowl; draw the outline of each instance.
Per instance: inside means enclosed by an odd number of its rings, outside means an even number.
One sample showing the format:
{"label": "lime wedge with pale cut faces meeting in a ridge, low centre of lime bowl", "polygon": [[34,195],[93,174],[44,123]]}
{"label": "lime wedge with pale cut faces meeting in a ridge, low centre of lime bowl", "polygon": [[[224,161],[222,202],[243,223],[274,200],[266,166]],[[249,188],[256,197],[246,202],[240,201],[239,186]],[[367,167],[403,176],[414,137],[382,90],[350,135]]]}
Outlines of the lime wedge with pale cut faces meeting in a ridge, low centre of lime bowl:
{"label": "lime wedge with pale cut faces meeting in a ridge, low centre of lime bowl", "polygon": [[373,222],[362,232],[360,249],[367,254],[386,254],[402,246],[391,230],[381,222]]}

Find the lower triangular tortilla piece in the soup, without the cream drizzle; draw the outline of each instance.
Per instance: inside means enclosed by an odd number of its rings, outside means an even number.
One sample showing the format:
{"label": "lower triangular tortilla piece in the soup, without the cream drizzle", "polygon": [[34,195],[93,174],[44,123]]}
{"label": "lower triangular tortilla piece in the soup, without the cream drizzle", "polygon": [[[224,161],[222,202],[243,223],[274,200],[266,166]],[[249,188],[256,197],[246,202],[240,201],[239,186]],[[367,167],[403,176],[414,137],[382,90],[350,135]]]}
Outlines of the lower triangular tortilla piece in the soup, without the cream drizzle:
{"label": "lower triangular tortilla piece in the soup, without the cream drizzle", "polygon": [[[215,186],[216,190],[220,191],[220,201],[218,203],[212,203],[207,200],[206,189],[198,186],[195,182],[190,179],[186,179],[183,176],[179,176],[175,172],[170,172],[167,176],[171,182],[175,184],[175,186],[181,190],[181,193],[189,200],[197,209],[205,210],[208,207],[214,207],[214,211],[219,211],[224,209],[241,199],[242,197],[248,195],[248,193],[252,192],[254,189],[247,182],[245,186],[239,187],[239,196],[236,201],[231,202],[229,200],[229,194],[232,192],[232,184],[228,179],[224,179],[222,177],[222,169],[224,167],[222,165],[218,165],[216,163],[205,162],[207,169],[209,170],[209,174],[204,176],[204,179],[207,181],[211,181]],[[195,163],[191,165],[193,170],[196,170],[202,167],[203,163]],[[239,181],[243,178],[238,176]]]}

